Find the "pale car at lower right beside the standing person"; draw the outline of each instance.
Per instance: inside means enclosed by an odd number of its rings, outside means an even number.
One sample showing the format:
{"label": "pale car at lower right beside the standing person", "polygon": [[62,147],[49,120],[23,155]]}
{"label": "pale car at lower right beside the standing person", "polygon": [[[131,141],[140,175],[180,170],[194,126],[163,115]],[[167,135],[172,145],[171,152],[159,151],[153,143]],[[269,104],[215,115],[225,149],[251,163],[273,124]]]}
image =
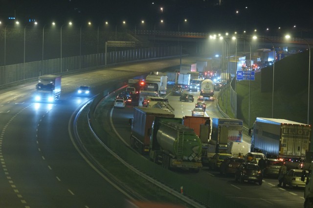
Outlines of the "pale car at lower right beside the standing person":
{"label": "pale car at lower right beside the standing person", "polygon": [[284,179],[283,179],[283,187],[288,185],[289,187],[305,187],[305,183],[307,181],[307,177],[305,177],[304,181],[301,181],[302,170],[299,169],[291,169],[288,170]]}

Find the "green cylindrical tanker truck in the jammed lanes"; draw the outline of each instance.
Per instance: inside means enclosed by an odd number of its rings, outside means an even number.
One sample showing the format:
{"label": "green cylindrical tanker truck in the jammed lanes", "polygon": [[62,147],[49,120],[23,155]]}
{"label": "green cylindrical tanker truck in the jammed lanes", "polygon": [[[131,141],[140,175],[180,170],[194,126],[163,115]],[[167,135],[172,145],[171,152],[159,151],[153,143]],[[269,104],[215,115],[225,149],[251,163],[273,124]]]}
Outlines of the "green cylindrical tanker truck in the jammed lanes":
{"label": "green cylindrical tanker truck in the jammed lanes", "polygon": [[166,169],[199,172],[202,168],[201,140],[193,129],[181,122],[180,118],[156,117],[150,137],[150,159]]}

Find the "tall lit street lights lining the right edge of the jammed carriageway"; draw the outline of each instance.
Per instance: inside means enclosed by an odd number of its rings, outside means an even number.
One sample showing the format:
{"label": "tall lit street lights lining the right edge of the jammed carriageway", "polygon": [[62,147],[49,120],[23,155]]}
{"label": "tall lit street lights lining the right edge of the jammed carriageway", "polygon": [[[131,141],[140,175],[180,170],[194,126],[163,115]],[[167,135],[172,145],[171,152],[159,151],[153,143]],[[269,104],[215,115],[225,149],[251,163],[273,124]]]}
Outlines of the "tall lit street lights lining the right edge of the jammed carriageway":
{"label": "tall lit street lights lining the right edge of the jammed carriageway", "polygon": [[[227,36],[228,34],[226,34]],[[227,58],[228,58],[228,52],[229,52],[229,44],[228,42],[226,41],[226,39],[230,39],[230,38],[224,38],[223,36],[219,35],[220,36],[220,39],[224,39],[224,41],[227,43]],[[215,39],[216,36],[210,36],[210,39]],[[273,44],[273,42],[269,39],[269,38],[266,38],[266,37],[262,37],[266,40],[268,40],[271,44],[272,44],[272,47],[273,47],[273,52],[274,52],[274,60],[273,60],[273,77],[272,77],[272,112],[271,112],[271,117],[273,118],[273,114],[274,114],[274,75],[275,75],[275,60],[276,60],[276,55],[275,55],[275,46]],[[291,38],[290,35],[286,35],[285,36],[286,39],[289,39]],[[233,36],[231,39],[233,40],[236,40],[236,52],[235,52],[235,60],[236,60],[236,73],[237,73],[237,37]],[[252,67],[252,59],[251,59],[251,53],[252,53],[252,47],[251,47],[251,44],[249,43],[249,41],[246,40],[246,38],[239,38],[239,39],[243,39],[245,40],[249,47],[250,47],[250,79],[249,79],[249,108],[248,108],[248,124],[250,124],[250,95],[251,95],[251,67]],[[257,36],[253,36],[252,37],[253,40],[257,39]],[[303,39],[306,44],[308,45],[308,48],[309,48],[309,76],[308,76],[308,111],[307,111],[307,123],[309,124],[310,122],[310,76],[311,76],[311,47],[310,47],[310,44],[309,42],[304,39],[304,38],[301,38]],[[228,61],[227,61],[228,62]],[[228,73],[228,63],[227,63],[227,73]],[[228,91],[226,90],[226,93]],[[235,81],[235,93],[236,93],[236,81]],[[227,98],[228,98],[228,95],[226,94],[226,113],[227,113]],[[237,118],[237,104],[235,104],[235,118]]]}

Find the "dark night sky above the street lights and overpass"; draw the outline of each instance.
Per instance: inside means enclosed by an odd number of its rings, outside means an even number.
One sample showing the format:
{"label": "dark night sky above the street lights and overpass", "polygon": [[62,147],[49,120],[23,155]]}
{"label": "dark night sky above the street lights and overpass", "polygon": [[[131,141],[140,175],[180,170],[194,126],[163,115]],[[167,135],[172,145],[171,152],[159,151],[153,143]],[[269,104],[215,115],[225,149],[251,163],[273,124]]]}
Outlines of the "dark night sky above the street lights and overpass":
{"label": "dark night sky above the street lights and overpass", "polygon": [[118,25],[125,20],[138,28],[144,19],[146,27],[156,25],[159,30],[177,31],[179,25],[181,31],[191,32],[252,33],[257,29],[265,33],[267,27],[288,31],[293,25],[297,30],[312,30],[311,4],[310,0],[223,0],[221,5],[219,0],[0,0],[0,20],[6,22],[15,13],[21,22],[31,18],[43,24],[72,20],[99,25],[107,20]]}

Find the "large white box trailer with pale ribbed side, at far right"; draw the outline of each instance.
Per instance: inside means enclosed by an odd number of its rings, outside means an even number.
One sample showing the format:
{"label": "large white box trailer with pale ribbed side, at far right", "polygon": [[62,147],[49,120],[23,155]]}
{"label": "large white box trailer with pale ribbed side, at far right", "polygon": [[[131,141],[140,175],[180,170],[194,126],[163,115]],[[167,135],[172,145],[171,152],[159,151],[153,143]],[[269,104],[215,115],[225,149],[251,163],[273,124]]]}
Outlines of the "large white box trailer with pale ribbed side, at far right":
{"label": "large white box trailer with pale ribbed side, at far right", "polygon": [[311,126],[278,118],[257,117],[249,129],[251,151],[262,151],[267,157],[305,158],[310,151]]}

